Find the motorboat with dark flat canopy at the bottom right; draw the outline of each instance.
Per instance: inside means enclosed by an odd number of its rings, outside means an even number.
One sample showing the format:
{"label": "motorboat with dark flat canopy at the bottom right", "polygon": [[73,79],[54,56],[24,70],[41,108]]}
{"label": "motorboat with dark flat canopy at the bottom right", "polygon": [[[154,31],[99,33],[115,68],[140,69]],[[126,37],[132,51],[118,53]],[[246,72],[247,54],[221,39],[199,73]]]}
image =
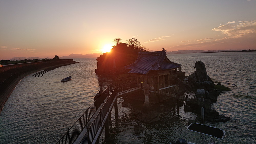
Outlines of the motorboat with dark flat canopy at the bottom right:
{"label": "motorboat with dark flat canopy at the bottom right", "polygon": [[[223,137],[225,136],[224,130],[221,130],[216,127],[198,124],[198,123],[190,124],[187,127],[187,129],[202,134],[203,138],[204,138],[204,135],[210,136],[209,144],[217,143],[217,141],[215,141],[215,138],[218,139],[219,140],[218,143],[220,143],[220,139],[223,139]],[[206,143],[205,138],[204,138],[204,143]],[[195,143],[188,142],[186,139],[178,139],[177,142],[171,142],[170,144],[195,144]]]}

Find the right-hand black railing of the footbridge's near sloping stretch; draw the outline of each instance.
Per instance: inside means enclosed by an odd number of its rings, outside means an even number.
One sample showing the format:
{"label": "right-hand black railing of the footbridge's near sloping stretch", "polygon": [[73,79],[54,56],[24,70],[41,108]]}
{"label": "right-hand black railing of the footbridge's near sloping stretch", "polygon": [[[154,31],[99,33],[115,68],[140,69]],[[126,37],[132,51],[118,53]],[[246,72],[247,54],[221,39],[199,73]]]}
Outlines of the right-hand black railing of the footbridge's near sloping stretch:
{"label": "right-hand black railing of the footbridge's near sloping stretch", "polygon": [[100,109],[100,112],[97,114],[96,118],[93,120],[92,124],[87,128],[87,132],[84,134],[82,140],[79,143],[82,143],[82,144],[92,143],[99,128],[102,126],[102,122],[106,114],[109,112],[110,106],[114,102],[115,97],[116,97],[116,88],[114,88],[111,95],[108,97],[105,104]]}

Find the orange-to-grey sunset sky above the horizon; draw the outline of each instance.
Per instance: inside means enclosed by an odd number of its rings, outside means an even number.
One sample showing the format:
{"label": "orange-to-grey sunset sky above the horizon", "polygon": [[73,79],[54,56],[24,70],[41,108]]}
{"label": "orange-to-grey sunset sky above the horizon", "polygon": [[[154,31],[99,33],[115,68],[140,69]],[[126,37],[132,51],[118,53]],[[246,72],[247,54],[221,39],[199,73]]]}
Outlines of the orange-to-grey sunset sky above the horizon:
{"label": "orange-to-grey sunset sky above the horizon", "polygon": [[256,49],[255,0],[0,0],[0,59],[149,50]]}

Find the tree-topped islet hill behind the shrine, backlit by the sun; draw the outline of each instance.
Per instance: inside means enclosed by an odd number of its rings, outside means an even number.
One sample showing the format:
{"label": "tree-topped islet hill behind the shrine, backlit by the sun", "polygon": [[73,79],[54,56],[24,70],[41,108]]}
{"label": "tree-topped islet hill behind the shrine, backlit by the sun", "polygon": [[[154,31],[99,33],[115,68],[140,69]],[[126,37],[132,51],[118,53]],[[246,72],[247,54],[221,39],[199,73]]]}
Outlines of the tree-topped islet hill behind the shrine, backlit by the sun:
{"label": "tree-topped islet hill behind the shrine, backlit by the sun", "polygon": [[124,66],[136,61],[139,52],[148,51],[148,49],[142,46],[135,38],[126,40],[127,43],[123,43],[121,40],[121,38],[114,39],[113,42],[116,45],[113,46],[111,51],[105,52],[97,58],[96,74],[120,73]]}

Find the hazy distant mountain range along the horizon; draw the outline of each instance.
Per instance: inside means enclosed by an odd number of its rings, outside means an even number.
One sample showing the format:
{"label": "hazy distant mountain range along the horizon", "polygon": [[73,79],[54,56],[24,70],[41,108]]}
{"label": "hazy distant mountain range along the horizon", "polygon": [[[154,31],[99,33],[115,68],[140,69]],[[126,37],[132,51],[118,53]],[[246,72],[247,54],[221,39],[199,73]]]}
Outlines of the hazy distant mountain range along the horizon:
{"label": "hazy distant mountain range along the horizon", "polygon": [[[150,50],[153,51],[153,50]],[[182,53],[201,53],[201,52],[221,52],[221,51],[237,51],[237,50],[178,50],[178,51],[166,51],[166,54],[182,54]],[[89,53],[89,54],[70,54],[69,56],[63,56],[60,57],[60,59],[78,59],[78,58],[97,58],[101,55],[102,53]],[[24,60],[24,59],[43,59],[39,57],[31,57],[31,58],[25,58],[25,57],[14,57],[10,59],[11,61],[13,60]],[[52,59],[52,58],[44,58],[44,59]]]}

